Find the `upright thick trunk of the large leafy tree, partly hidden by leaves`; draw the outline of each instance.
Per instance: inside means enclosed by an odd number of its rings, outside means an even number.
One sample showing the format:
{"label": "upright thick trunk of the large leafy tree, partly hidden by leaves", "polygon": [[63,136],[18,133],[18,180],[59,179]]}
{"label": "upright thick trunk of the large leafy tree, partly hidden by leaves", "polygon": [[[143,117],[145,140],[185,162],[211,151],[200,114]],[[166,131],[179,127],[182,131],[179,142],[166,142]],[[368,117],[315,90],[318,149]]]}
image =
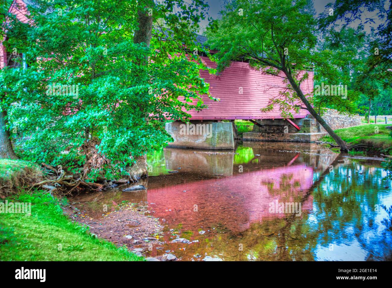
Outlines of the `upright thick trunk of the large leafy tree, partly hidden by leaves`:
{"label": "upright thick trunk of the large leafy tree, partly hidden by leaves", "polygon": [[[152,7],[152,5],[150,7]],[[143,7],[139,7],[138,9],[138,24],[138,29],[135,31],[133,42],[136,44],[144,43],[147,47],[149,47],[152,34],[152,16],[150,16]],[[140,61],[138,64],[148,65],[148,58],[145,58],[144,61]],[[141,77],[143,76],[141,75]],[[137,182],[141,177],[148,176],[147,156],[142,155],[135,157],[134,159],[136,160],[136,163],[127,167],[129,182],[131,183]]]}

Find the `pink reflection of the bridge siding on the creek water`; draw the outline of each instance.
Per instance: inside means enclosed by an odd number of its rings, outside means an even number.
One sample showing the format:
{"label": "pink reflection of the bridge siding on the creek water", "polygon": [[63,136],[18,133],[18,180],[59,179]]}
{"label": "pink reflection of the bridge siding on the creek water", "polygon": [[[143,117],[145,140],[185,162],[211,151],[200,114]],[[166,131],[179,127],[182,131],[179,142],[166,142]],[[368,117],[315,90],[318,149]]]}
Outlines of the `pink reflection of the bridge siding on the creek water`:
{"label": "pink reflection of the bridge siding on the creek water", "polygon": [[154,216],[171,228],[181,224],[181,230],[197,231],[221,225],[238,232],[263,218],[287,216],[269,213],[271,202],[300,202],[302,213],[310,210],[312,183],[313,169],[300,164],[149,188],[147,201],[154,203]]}

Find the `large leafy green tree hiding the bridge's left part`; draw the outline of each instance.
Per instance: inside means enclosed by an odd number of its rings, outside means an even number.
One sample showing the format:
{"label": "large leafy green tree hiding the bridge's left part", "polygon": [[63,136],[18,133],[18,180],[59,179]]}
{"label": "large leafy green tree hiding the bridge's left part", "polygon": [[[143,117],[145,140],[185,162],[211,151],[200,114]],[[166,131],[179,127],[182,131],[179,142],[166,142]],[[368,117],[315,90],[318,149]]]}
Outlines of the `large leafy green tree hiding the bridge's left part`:
{"label": "large leafy green tree hiding the bridge's left part", "polygon": [[[29,45],[18,49],[30,69],[44,74],[34,83],[39,96],[12,107],[24,136],[18,149],[24,158],[62,165],[85,181],[134,180],[127,167],[171,140],[161,121],[187,119],[184,110],[203,108],[200,95],[209,95],[199,73],[205,67],[184,48],[195,46],[203,17],[198,10],[205,5],[36,2],[29,6],[33,26],[14,23],[8,29],[9,41],[27,37]],[[151,32],[150,16],[165,26]]]}

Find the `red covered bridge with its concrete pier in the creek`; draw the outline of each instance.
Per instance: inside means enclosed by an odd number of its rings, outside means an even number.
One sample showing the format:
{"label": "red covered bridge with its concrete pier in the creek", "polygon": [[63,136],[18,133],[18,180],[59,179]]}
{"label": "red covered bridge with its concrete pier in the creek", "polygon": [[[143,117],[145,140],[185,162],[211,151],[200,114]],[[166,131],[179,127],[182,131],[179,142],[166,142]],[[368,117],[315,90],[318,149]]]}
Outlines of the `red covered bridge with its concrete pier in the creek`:
{"label": "red covered bridge with its concrete pier in the creek", "polygon": [[[21,21],[26,23],[28,5],[36,5],[33,0],[14,0],[9,8],[9,12],[16,15]],[[3,39],[4,40],[4,39]],[[198,35],[196,39],[201,45],[207,40],[204,36]],[[18,55],[22,56],[22,55]],[[4,45],[0,45],[0,68],[11,65],[22,65],[14,62],[13,55],[6,51]],[[207,66],[216,68],[216,63],[211,62],[208,57],[201,56]],[[313,90],[313,71],[307,71],[308,78],[301,83],[304,94]],[[260,70],[252,69],[247,62],[232,62],[230,67],[218,75],[211,75],[208,71],[200,71],[203,77],[210,84],[210,92],[214,98],[220,101],[213,101],[207,96],[203,96],[203,101],[207,108],[201,111],[187,111],[191,114],[191,121],[212,121],[211,134],[196,136],[187,133],[183,137],[180,132],[181,122],[167,123],[166,130],[174,138],[174,146],[194,147],[203,149],[234,149],[233,130],[230,123],[216,123],[219,120],[262,120],[262,119],[282,119],[281,111],[274,109],[269,112],[261,112],[260,109],[266,107],[271,98],[279,95],[285,90],[286,83],[283,78],[263,73]],[[301,109],[299,113],[291,111],[293,118],[306,118],[309,112]],[[290,119],[291,125],[299,130],[299,127]],[[276,122],[276,121],[275,121]],[[256,122],[254,122],[256,123]],[[259,123],[256,123],[260,125]],[[207,130],[208,131],[208,130]],[[191,135],[191,136],[189,136]],[[213,137],[212,137],[213,136]],[[200,143],[203,143],[200,146]]]}

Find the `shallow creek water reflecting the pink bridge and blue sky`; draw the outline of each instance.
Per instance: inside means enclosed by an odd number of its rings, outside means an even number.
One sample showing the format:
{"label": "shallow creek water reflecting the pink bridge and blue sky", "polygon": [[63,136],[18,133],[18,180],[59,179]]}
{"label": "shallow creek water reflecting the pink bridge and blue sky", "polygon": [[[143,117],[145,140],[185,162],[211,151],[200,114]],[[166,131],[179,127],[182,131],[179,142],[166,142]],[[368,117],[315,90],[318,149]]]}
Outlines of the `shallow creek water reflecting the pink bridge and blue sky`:
{"label": "shallow creek water reflecting the pink bridge and blue sky", "polygon": [[[244,142],[235,151],[162,148],[147,157],[149,178],[141,181],[147,189],[122,192],[127,185],[69,201],[80,209],[78,221],[94,226],[110,213],[125,219],[125,206],[154,219],[156,233],[149,237],[158,240],[149,241],[146,257],[392,260],[387,172],[381,161],[345,156],[314,143]],[[106,235],[125,239],[125,230]],[[178,238],[189,242],[173,243]]]}

